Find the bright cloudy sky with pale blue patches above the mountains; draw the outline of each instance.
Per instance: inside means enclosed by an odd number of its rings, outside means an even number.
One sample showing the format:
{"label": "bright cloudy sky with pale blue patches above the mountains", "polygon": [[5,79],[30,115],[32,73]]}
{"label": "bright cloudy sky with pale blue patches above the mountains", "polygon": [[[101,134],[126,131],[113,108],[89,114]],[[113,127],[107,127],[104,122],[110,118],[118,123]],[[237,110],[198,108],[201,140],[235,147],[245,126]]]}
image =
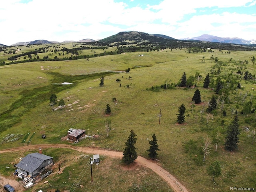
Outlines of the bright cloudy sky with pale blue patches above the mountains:
{"label": "bright cloudy sky with pale blue patches above the mountains", "polygon": [[4,0],[0,43],[99,40],[122,31],[256,40],[256,0]]}

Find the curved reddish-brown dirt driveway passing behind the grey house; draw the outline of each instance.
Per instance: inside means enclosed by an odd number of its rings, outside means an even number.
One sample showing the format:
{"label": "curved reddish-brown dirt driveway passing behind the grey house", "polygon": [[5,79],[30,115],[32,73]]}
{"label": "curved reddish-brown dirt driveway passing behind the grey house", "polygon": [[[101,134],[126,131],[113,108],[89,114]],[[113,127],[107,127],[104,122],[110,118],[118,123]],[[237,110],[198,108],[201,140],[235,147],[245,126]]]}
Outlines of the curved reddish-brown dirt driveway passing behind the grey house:
{"label": "curved reddish-brown dirt driveway passing behind the grey house", "polygon": [[[122,158],[123,153],[117,152],[117,151],[111,151],[111,150],[104,150],[104,149],[98,149],[98,148],[90,148],[90,147],[76,147],[76,146],[70,146],[66,144],[40,144],[40,145],[31,145],[29,146],[30,149],[37,149],[37,148],[69,148],[73,149],[79,152],[89,153],[89,154],[100,154],[100,155],[106,155],[110,156],[112,158]],[[27,146],[22,146],[18,148],[10,148],[6,150],[1,150],[0,153],[5,152],[16,152],[20,150],[28,150]],[[162,177],[168,184],[173,188],[176,192],[188,192],[188,190],[169,172],[164,170],[162,167],[158,166],[155,162],[152,162],[150,160],[147,160],[141,156],[138,156],[138,158],[135,160],[136,163],[138,163],[141,166],[150,168],[152,171],[154,171],[156,174],[158,174],[160,177]]]}

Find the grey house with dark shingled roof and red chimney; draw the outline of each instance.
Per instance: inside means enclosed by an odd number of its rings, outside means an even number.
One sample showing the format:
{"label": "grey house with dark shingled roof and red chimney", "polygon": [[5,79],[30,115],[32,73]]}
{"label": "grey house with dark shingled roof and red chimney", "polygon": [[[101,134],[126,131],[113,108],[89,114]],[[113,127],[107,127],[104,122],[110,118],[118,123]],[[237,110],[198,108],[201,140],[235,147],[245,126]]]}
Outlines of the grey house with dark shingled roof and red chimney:
{"label": "grey house with dark shingled roof and red chimney", "polygon": [[53,164],[53,157],[42,154],[41,149],[39,153],[30,153],[16,164],[19,178],[35,178],[45,169]]}

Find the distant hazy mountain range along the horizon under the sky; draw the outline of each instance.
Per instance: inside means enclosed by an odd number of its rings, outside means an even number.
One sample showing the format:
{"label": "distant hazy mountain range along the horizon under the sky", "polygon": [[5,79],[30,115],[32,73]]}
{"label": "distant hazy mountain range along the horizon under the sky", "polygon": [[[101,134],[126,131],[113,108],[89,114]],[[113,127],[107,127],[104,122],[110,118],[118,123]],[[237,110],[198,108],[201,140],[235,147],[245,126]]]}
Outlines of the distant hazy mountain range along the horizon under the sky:
{"label": "distant hazy mountain range along the horizon under the sky", "polygon": [[[170,36],[166,36],[163,34],[147,34],[144,32],[136,32],[136,31],[131,31],[131,32],[119,32],[118,34],[109,36],[107,38],[104,38],[102,40],[98,40],[100,42],[108,42],[108,43],[113,43],[113,42],[123,42],[122,44],[127,44],[127,42],[125,43],[124,40],[129,40],[129,39],[143,39],[145,41],[148,42],[163,42],[164,39],[168,39],[168,40],[177,40],[175,38],[172,38]],[[193,37],[193,38],[184,38],[184,39],[180,39],[180,40],[189,40],[189,41],[203,41],[203,42],[219,42],[219,43],[230,43],[230,44],[246,44],[246,45],[250,45],[250,44],[256,44],[256,40],[244,40],[241,38],[230,38],[230,37],[226,37],[226,38],[222,38],[222,37],[218,37],[218,36],[212,36],[212,35],[208,35],[208,34],[203,34],[201,36],[198,37]],[[64,42],[53,42],[53,41],[48,41],[48,40],[34,40],[34,41],[30,41],[30,42],[18,42],[15,44],[12,44],[11,46],[20,46],[20,45],[30,45],[30,44],[51,44],[51,43],[70,43],[70,42],[95,42],[97,40],[93,40],[93,39],[82,39],[79,41],[74,41],[74,40],[67,40]],[[0,46],[5,46],[3,44],[0,44]]]}

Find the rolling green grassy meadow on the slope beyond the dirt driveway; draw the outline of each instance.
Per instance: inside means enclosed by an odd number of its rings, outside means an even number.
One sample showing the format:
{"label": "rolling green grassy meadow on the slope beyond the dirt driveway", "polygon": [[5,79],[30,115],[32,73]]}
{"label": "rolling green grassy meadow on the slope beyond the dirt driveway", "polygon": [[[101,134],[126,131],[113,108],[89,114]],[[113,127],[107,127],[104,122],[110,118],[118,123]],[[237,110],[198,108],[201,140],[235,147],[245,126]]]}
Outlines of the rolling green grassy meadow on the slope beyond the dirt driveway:
{"label": "rolling green grassy meadow on the slope beyond the dirt driveway", "polygon": [[[248,117],[240,114],[243,108],[241,101],[246,92],[245,102],[252,98],[252,106],[255,108],[256,84],[245,81],[242,76],[236,74],[238,69],[243,73],[248,70],[256,74],[255,64],[251,61],[255,53],[237,51],[228,54],[225,52],[228,51],[214,50],[212,53],[189,54],[186,49],[168,49],[102,56],[90,58],[89,61],[81,59],[2,66],[0,68],[1,149],[29,144],[66,143],[61,138],[66,136],[68,129],[78,128],[86,130],[89,135],[100,135],[98,140],[83,140],[77,144],[78,146],[96,146],[122,151],[124,142],[130,130],[133,129],[138,136],[136,142],[138,155],[147,157],[146,150],[149,148],[147,138],[151,139],[151,135],[155,133],[160,148],[158,159],[162,167],[176,176],[190,191],[225,192],[230,191],[230,186],[256,188],[256,143],[252,145],[252,130],[256,125],[256,117],[255,114],[249,114]],[[145,56],[139,57],[139,54]],[[214,58],[218,57],[218,60],[225,65],[216,66],[216,63],[210,60],[212,55]],[[229,61],[230,58],[232,61]],[[240,62],[244,60],[248,60],[248,64]],[[214,73],[218,67],[221,69],[222,80],[228,81],[229,76],[234,76],[240,82],[242,89],[230,92],[230,102],[224,104],[227,116],[222,116],[219,103],[214,116],[204,112],[201,119],[200,110],[207,108],[212,95],[216,95],[214,91],[202,88],[203,80],[207,73]],[[127,68],[131,68],[130,73],[119,73]],[[196,72],[202,75],[197,82],[202,104],[196,105],[193,113],[191,108],[191,99],[195,91],[193,88],[176,87],[160,92],[146,91],[146,88],[160,86],[166,82],[178,83],[183,72],[186,72],[187,78],[195,76]],[[104,76],[103,87],[99,86],[101,76]],[[129,76],[132,78],[128,78]],[[121,80],[119,83],[116,82],[118,78]],[[216,78],[217,76],[212,75],[212,79]],[[62,82],[73,84],[58,85]],[[52,111],[49,106],[52,93],[56,94],[58,99],[63,98],[69,106]],[[117,102],[113,102],[112,98],[116,98]],[[112,110],[109,118],[113,128],[108,138],[104,131],[104,121],[107,118],[104,110],[107,103]],[[186,118],[185,123],[179,125],[176,124],[176,114],[182,103],[186,107]],[[161,124],[159,124],[160,109],[162,110]],[[226,127],[232,121],[232,109],[238,111],[240,120],[241,134],[236,152],[228,152],[223,148]],[[249,131],[245,131],[243,128],[245,126],[249,127]],[[214,151],[214,145],[211,145],[211,154],[206,157],[206,162],[203,162],[204,137],[209,135],[212,138],[215,129],[220,130],[222,142],[217,152]],[[33,132],[35,134],[28,142],[30,136],[27,134]],[[15,141],[6,140],[5,138],[10,134],[15,134],[13,138],[19,138]],[[42,134],[46,134],[45,140],[42,140]],[[26,141],[22,142],[25,137],[27,137]],[[58,158],[59,155],[52,152],[51,156]],[[3,161],[6,162],[4,157],[1,157],[1,164]],[[12,159],[14,158],[15,155],[12,156]],[[118,174],[112,172],[115,171],[112,169],[116,167],[116,163],[121,162],[115,162],[108,157],[104,158],[112,162],[107,175]],[[222,175],[216,178],[217,185],[213,185],[206,168],[216,160],[221,164]],[[74,165],[71,164],[70,169],[76,164],[81,162],[78,160]],[[145,171],[149,173],[145,174],[146,178],[141,175],[139,178],[142,178],[144,183],[142,185],[148,191],[152,191],[151,189],[167,191],[166,186],[162,184],[163,188],[159,189],[148,186],[146,181],[152,174],[149,170]],[[99,171],[98,174],[101,175],[102,172],[104,170]],[[126,176],[128,175],[130,176],[130,173],[127,172]],[[157,176],[154,177],[157,178]],[[102,178],[100,182],[106,182],[102,175],[99,178]],[[65,178],[52,179],[58,180],[59,183],[66,182]],[[122,180],[128,182],[124,178]],[[88,186],[88,181],[83,185]],[[116,181],[114,185],[122,185],[122,182]],[[100,186],[101,184],[95,189],[102,190],[108,185],[106,182],[103,188]],[[59,188],[66,189],[66,186],[60,184]],[[128,191],[128,188],[126,190]],[[108,188],[106,191],[115,190]]]}

